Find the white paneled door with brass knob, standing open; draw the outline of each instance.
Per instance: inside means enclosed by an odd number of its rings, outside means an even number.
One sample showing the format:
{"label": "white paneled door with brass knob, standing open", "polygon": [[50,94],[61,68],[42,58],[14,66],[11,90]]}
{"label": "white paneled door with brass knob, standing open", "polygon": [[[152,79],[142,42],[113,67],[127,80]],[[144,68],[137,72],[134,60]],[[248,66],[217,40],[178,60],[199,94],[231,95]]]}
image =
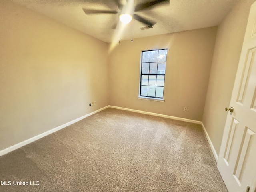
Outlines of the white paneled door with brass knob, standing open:
{"label": "white paneled door with brass knob, standing open", "polygon": [[[234,39],[235,41],[235,39]],[[252,4],[218,158],[229,192],[256,192],[256,2]]]}

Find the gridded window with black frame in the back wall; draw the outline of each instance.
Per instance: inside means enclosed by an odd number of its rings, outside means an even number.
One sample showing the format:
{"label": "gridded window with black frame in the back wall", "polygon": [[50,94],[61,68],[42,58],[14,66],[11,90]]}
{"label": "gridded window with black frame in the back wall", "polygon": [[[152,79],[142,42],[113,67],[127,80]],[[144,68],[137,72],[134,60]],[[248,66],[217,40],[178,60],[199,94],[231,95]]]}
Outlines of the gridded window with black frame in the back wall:
{"label": "gridded window with black frame in the back wall", "polygon": [[163,98],[167,49],[142,51],[140,96]]}

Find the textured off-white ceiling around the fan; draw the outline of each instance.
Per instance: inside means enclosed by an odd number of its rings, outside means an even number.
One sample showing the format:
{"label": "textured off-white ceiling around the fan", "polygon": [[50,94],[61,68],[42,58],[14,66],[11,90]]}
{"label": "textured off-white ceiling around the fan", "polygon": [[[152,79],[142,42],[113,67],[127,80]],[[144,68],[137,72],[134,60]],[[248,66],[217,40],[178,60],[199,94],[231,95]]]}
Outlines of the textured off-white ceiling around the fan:
{"label": "textured off-white ceiling around the fan", "polygon": [[[118,10],[115,0],[12,0],[54,20],[80,30],[104,42],[167,34],[217,26],[237,0],[170,0],[170,4],[143,10],[140,16],[157,22],[154,28],[141,30],[145,24],[133,20],[112,29],[118,14],[86,15],[83,8]],[[135,4],[147,0],[134,0]]]}

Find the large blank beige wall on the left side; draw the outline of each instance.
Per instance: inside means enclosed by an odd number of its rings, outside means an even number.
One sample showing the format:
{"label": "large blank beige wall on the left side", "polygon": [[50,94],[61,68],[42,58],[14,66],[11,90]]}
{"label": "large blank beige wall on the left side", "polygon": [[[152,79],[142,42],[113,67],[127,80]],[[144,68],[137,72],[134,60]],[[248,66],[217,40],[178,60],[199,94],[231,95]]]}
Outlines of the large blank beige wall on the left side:
{"label": "large blank beige wall on the left side", "polygon": [[1,1],[0,150],[107,106],[107,50],[100,40]]}

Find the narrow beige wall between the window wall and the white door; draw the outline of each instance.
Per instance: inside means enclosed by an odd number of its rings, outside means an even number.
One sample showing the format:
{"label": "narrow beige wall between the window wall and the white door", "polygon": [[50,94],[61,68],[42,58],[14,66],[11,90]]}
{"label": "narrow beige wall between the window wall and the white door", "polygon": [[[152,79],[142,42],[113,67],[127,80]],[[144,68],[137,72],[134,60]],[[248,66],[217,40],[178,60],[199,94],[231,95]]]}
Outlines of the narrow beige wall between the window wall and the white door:
{"label": "narrow beige wall between the window wall and the white door", "polygon": [[244,40],[250,5],[241,0],[218,26],[202,122],[219,154],[222,134]]}

